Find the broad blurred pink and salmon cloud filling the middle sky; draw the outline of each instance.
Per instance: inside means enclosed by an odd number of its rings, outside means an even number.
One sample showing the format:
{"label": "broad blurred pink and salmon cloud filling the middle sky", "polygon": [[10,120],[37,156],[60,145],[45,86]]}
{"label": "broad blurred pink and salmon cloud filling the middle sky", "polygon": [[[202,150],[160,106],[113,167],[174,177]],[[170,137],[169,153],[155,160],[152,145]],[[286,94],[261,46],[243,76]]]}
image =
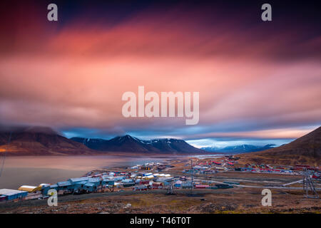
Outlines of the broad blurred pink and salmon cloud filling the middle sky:
{"label": "broad blurred pink and salmon cloud filling the middle sky", "polygon": [[246,34],[227,29],[240,22],[208,31],[198,27],[201,16],[194,21],[173,14],[148,19],[138,14],[107,28],[74,22],[58,31],[39,23],[32,35],[19,24],[21,37],[0,56],[1,121],[183,127],[182,119],[123,118],[121,95],[145,86],[158,93],[199,91],[200,125],[243,119],[264,120],[272,127],[320,123],[321,67],[313,51],[320,37],[289,49],[297,41],[290,32],[264,38],[257,27]]}

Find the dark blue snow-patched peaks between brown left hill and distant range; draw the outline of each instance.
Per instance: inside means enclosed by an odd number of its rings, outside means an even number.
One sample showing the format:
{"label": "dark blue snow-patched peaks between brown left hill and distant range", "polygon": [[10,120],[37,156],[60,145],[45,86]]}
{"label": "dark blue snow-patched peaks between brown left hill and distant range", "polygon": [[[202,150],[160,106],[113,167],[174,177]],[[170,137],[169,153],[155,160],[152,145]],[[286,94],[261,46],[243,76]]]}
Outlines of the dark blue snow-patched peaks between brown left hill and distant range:
{"label": "dark blue snow-patched peaks between brown left hill and distant range", "polygon": [[81,142],[93,150],[113,151],[113,152],[153,152],[153,153],[198,153],[205,152],[184,140],[177,139],[156,139],[140,140],[131,135],[117,136],[111,140],[71,138],[76,142]]}

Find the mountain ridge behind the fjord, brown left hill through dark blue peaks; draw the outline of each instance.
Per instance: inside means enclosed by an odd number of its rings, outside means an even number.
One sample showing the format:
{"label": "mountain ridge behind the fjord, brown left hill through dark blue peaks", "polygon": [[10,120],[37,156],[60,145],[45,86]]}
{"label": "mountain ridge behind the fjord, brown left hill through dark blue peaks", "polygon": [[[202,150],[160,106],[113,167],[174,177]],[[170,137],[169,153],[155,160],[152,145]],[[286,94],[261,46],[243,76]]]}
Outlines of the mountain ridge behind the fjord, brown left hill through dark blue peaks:
{"label": "mountain ridge behind the fjord, brown left hill through dark blue peaks", "polygon": [[46,127],[0,129],[0,154],[5,151],[7,155],[95,155],[106,152],[193,154],[205,152],[189,145],[184,140],[173,138],[139,140],[131,135],[125,135],[111,140],[68,139]]}

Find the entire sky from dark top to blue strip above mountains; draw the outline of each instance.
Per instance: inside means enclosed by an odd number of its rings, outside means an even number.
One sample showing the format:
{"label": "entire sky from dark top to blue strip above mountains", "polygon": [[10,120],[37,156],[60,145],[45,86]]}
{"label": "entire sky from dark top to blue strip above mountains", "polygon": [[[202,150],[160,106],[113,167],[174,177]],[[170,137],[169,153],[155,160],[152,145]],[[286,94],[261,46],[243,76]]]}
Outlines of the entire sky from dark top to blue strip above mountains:
{"label": "entire sky from dark top to blue strip above mountains", "polygon": [[[58,21],[47,6],[58,6]],[[0,125],[66,137],[290,142],[321,125],[317,1],[1,1]],[[123,93],[200,93],[200,120],[124,118]]]}

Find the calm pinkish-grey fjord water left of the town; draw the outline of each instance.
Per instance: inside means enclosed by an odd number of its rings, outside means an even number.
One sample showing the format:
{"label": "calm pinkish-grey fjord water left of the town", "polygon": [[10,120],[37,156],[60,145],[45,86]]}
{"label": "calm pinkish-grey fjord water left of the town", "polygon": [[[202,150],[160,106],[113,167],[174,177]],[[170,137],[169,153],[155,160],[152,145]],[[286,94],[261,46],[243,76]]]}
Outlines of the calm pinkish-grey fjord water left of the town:
{"label": "calm pinkish-grey fjord water left of the town", "polygon": [[146,162],[162,162],[165,159],[167,158],[113,155],[6,157],[0,177],[0,189],[18,189],[21,185],[41,183],[54,184],[72,177],[81,177],[98,168],[143,165]]}

